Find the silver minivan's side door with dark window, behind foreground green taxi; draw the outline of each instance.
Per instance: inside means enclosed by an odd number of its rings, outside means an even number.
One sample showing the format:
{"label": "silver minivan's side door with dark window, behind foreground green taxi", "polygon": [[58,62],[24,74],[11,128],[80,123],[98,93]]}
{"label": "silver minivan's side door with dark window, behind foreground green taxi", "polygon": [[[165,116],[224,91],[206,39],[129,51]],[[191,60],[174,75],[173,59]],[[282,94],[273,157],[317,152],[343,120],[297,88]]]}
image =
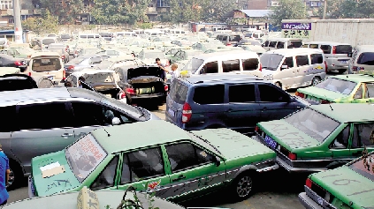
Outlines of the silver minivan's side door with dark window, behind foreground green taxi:
{"label": "silver minivan's side door with dark window, behind foreground green taxi", "polygon": [[71,145],[73,116],[65,101],[19,103],[19,131],[11,134],[11,151],[25,165],[36,156],[53,153]]}

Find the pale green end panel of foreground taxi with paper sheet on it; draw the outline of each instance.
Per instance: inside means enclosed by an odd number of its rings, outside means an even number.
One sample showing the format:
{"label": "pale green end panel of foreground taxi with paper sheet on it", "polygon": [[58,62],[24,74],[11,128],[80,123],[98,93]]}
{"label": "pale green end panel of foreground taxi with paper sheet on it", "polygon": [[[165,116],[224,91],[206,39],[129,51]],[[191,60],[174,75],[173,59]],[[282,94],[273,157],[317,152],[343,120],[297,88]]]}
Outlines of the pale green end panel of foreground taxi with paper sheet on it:
{"label": "pale green end panel of foreground taxi with paper sheet on it", "polygon": [[[65,158],[65,150],[57,153],[44,154],[34,157],[32,160],[32,177],[34,179],[34,189],[39,197],[56,194],[66,190],[79,187],[77,180]],[[42,169],[45,166],[57,164],[65,169],[65,172],[42,177]],[[53,167],[52,167],[53,168]],[[51,171],[51,169],[49,170]]]}

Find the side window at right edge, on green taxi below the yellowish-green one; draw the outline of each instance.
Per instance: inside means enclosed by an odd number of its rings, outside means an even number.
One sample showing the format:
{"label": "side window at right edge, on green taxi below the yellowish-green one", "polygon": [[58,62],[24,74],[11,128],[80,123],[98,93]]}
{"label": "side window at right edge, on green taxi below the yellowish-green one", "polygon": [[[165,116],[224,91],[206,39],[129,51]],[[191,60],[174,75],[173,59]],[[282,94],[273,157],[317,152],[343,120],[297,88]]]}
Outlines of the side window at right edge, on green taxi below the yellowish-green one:
{"label": "side window at right edge, on green taxi below the yellowish-green one", "polygon": [[374,123],[355,123],[352,148],[374,146]]}

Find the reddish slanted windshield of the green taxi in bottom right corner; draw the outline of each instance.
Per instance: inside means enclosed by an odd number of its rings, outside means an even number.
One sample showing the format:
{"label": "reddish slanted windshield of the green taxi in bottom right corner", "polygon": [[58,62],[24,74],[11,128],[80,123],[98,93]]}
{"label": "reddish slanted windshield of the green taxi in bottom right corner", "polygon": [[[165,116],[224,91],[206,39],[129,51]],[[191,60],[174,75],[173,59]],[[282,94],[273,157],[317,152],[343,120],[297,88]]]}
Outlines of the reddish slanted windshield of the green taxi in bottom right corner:
{"label": "reddish slanted windshield of the green taxi in bottom right corner", "polygon": [[369,178],[371,181],[374,181],[374,153],[370,153],[367,157],[360,158],[360,160],[351,164],[349,168]]}

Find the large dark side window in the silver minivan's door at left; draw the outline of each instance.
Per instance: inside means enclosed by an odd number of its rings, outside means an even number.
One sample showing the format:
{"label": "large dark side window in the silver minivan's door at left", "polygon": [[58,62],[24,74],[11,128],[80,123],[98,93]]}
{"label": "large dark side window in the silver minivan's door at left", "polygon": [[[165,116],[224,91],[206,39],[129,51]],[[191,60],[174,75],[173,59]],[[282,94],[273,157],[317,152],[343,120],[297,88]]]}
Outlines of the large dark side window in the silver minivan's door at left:
{"label": "large dark side window in the silver minivan's door at left", "polygon": [[[50,114],[53,115],[52,119]],[[48,130],[73,127],[72,118],[64,102],[29,104],[19,106],[20,130]]]}

